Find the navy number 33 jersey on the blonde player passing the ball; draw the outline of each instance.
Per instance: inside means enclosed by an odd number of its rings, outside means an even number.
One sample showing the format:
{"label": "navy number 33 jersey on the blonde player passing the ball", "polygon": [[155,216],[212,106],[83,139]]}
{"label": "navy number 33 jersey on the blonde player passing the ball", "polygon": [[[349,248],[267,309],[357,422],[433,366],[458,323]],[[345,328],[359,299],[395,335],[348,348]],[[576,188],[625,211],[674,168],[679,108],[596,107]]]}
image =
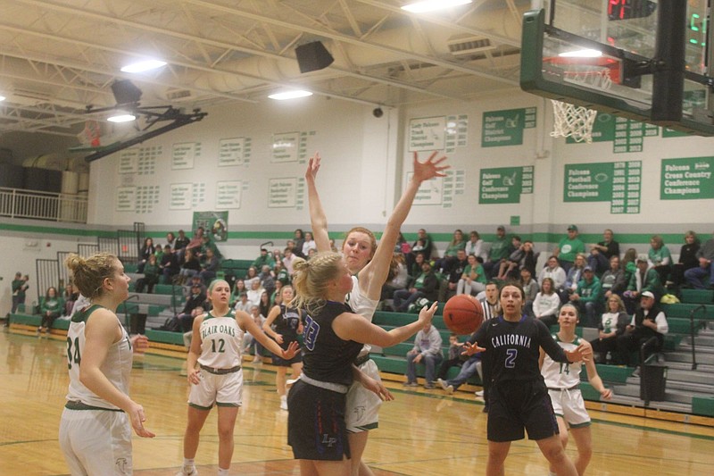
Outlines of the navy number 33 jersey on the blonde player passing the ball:
{"label": "navy number 33 jersey on the blonde player passing the ball", "polygon": [[362,345],[343,340],[332,330],[332,322],[352,310],[344,303],[328,301],[320,313],[308,316],[303,331],[303,372],[314,380],[350,385],[352,363]]}

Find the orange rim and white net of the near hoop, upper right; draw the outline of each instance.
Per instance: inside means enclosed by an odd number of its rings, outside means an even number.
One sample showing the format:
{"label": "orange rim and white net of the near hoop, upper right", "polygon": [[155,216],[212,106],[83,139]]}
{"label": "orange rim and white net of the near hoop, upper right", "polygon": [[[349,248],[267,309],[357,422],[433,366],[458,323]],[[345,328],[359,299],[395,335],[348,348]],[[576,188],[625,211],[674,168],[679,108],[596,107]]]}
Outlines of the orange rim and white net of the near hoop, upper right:
{"label": "orange rim and white net of the near hoop, upper right", "polygon": [[[546,66],[550,65],[550,66]],[[610,89],[619,83],[619,65],[607,58],[544,58],[544,68],[558,71],[563,82],[587,89]],[[552,138],[572,138],[576,142],[593,142],[593,125],[597,111],[584,106],[552,99]]]}

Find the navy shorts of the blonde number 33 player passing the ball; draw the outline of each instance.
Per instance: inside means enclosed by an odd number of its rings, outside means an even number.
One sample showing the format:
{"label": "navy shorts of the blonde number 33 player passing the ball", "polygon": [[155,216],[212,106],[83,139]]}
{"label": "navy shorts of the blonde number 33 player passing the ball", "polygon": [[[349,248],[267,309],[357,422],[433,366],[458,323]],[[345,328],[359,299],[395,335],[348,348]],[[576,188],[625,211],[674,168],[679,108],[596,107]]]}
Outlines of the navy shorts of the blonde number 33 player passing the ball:
{"label": "navy shorts of the blonde number 33 player passing the ball", "polygon": [[287,444],[295,459],[342,461],[350,457],[345,430],[346,395],[297,380],[287,394]]}

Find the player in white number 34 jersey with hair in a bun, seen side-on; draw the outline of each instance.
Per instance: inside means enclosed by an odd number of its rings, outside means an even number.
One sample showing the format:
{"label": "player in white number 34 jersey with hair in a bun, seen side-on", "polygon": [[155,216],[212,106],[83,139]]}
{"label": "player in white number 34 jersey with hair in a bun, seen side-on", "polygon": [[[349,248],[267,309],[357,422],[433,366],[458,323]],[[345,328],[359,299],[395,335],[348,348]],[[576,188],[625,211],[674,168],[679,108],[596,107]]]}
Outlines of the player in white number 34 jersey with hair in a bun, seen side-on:
{"label": "player in white number 34 jersey with hair in a bun, seen side-on", "polygon": [[72,316],[67,331],[70,388],[60,422],[60,447],[72,476],[132,473],[131,428],[144,428],[144,408],[129,398],[132,350],[143,352],[145,336],[129,339],[116,315],[129,296],[129,276],[114,255],[100,253],[65,261],[91,305]]}

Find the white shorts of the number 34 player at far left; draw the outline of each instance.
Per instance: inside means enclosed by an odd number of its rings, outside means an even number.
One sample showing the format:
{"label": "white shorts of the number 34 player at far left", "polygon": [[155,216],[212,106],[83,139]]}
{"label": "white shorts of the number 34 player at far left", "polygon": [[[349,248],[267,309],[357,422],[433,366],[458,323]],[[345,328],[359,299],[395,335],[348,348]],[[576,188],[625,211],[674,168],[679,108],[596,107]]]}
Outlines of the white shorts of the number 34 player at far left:
{"label": "white shorts of the number 34 player at far left", "polygon": [[72,476],[132,474],[127,413],[65,408],[60,420],[60,447]]}

